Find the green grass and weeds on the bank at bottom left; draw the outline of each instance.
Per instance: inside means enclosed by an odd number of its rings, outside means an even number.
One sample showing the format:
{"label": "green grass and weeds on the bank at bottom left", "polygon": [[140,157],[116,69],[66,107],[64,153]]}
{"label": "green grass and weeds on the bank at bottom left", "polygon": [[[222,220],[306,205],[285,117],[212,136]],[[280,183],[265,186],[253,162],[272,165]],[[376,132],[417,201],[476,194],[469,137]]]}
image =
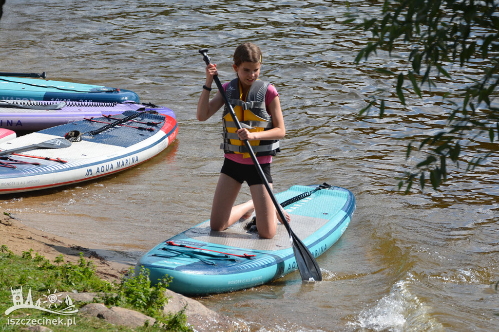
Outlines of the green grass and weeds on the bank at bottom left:
{"label": "green grass and weeds on the bank at bottom left", "polygon": [[[163,304],[168,301],[164,290],[168,287],[168,277],[159,281],[156,286],[151,286],[149,272],[141,270],[138,276],[133,271],[121,280],[109,283],[100,279],[95,273],[92,261],[87,261],[80,253],[77,263],[64,262],[62,255],[53,262],[34,253],[30,249],[22,255],[14,255],[4,245],[0,246],[0,331],[18,331],[27,326],[12,325],[15,320],[36,320],[36,323],[52,331],[192,331],[187,326],[185,308],[175,315],[165,315],[162,312]],[[24,308],[17,309],[6,316],[5,310],[12,306],[12,289],[22,286],[23,302],[31,289],[33,304],[40,298],[48,299],[49,293],[59,292],[99,292],[95,302],[104,303],[106,306],[119,306],[139,311],[156,319],[157,324],[151,327],[129,329],[107,324],[98,318],[87,318],[76,313],[63,316],[46,313],[41,310]],[[83,307],[86,303],[76,302],[76,308]],[[47,305],[41,305],[47,308]],[[52,307],[53,308],[53,307]],[[61,308],[64,308],[62,305]],[[61,309],[59,308],[59,309]],[[74,320],[74,326],[46,324],[49,320],[64,324]],[[14,321],[13,321],[14,320]],[[19,321],[21,322],[21,321]],[[45,323],[45,324],[44,324]]]}

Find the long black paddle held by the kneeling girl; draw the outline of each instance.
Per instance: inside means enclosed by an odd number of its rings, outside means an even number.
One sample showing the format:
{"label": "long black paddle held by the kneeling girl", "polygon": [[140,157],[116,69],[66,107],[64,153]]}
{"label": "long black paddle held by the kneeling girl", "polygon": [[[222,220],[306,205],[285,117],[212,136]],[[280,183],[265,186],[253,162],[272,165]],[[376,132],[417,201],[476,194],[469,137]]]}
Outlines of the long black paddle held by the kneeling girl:
{"label": "long black paddle held by the kneeling girl", "polygon": [[[203,59],[205,60],[206,64],[209,65],[210,62],[210,57],[208,56],[208,49],[207,48],[202,48],[199,50],[199,52],[203,55]],[[220,83],[220,79],[218,78],[218,75],[213,76],[213,79],[215,80],[215,83],[217,84],[217,87],[220,91],[220,94],[224,98],[225,104],[227,105],[229,112],[231,113],[232,119],[234,123],[236,124],[236,127],[241,129],[241,124],[239,123],[239,120],[234,113],[234,109],[232,108],[231,103],[229,102],[229,99],[227,98],[227,95],[225,94],[224,88],[222,86],[222,83]],[[263,170],[261,169],[260,164],[258,164],[258,160],[256,159],[256,156],[253,152],[253,149],[251,148],[250,141],[244,140],[244,144],[246,146],[246,149],[248,150],[248,153],[250,154],[251,160],[253,161],[254,166],[256,167],[256,170],[258,171],[258,175],[260,175],[261,180],[263,181],[263,184],[265,185],[265,188],[270,195],[270,198],[272,199],[272,202],[277,209],[277,213],[279,214],[280,219],[282,220],[282,223],[284,224],[284,227],[286,228],[288,234],[289,234],[289,240],[291,241],[293,252],[294,252],[294,257],[296,260],[296,265],[298,266],[298,271],[300,272],[301,280],[302,281],[321,281],[322,280],[322,274],[320,272],[319,265],[317,264],[317,261],[313,257],[312,253],[308,248],[305,246],[303,242],[294,234],[293,230],[289,226],[289,223],[286,220],[286,217],[284,216],[284,212],[282,211],[282,208],[279,205],[279,202],[277,201],[277,198],[275,198],[275,195],[272,192],[272,189],[270,188],[270,184],[268,184],[268,181],[263,174]]]}

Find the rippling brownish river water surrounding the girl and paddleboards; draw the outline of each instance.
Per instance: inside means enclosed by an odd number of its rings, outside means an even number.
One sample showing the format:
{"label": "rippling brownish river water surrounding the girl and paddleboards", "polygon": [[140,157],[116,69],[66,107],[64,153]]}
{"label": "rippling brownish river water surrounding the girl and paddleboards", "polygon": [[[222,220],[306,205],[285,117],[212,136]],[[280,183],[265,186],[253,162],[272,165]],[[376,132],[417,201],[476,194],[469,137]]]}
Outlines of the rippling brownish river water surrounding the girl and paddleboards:
{"label": "rippling brownish river water surrounding the girl and paddleboards", "polygon": [[[351,0],[350,10],[379,14],[381,0]],[[3,196],[2,212],[69,238],[119,250],[133,264],[157,243],[206,220],[222,154],[218,116],[195,112],[204,83],[198,49],[209,48],[222,81],[244,42],[263,53],[260,78],[280,94],[286,123],[273,163],[274,189],[328,182],[356,196],[353,221],[317,261],[324,281],[303,285],[298,272],[229,294],[198,298],[250,324],[251,331],[495,331],[499,326],[499,154],[487,137],[466,156],[493,152],[484,167],[450,168],[438,191],[397,191],[412,139],[445,127],[450,109],[439,87],[387,104],[387,116],[359,118],[368,96],[395,82],[375,68],[400,68],[380,52],[353,64],[368,35],[345,24],[346,1],[7,0],[0,34],[1,71],[135,91],[172,108],[174,144],[158,157],[94,182]],[[407,54],[405,54],[407,55]],[[455,69],[458,70],[458,69]],[[394,89],[392,89],[393,91]],[[388,101],[395,94],[385,93]],[[238,201],[250,197],[245,188]]]}

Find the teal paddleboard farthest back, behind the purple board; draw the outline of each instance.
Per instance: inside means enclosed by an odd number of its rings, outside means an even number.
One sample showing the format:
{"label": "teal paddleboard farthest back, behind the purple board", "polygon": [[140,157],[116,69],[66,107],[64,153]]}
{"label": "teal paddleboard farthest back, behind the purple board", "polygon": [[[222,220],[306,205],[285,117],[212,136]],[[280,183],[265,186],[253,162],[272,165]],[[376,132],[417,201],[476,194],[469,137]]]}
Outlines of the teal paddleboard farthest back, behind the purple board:
{"label": "teal paddleboard farthest back, behind the purple board", "polygon": [[130,90],[101,85],[11,76],[0,76],[0,99],[55,102],[140,102],[139,96]]}

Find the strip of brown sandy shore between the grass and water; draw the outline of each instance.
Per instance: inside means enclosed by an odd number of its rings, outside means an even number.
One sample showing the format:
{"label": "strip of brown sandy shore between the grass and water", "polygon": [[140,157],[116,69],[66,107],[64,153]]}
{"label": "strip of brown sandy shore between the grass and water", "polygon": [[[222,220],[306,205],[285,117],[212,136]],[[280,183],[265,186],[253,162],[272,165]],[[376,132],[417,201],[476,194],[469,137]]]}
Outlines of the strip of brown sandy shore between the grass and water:
{"label": "strip of brown sandy shore between the grass and water", "polygon": [[14,254],[33,249],[51,262],[62,254],[65,261],[76,262],[83,253],[95,264],[97,274],[106,280],[119,279],[134,260],[124,253],[98,248],[92,243],[68,239],[26,226],[9,215],[0,216],[0,246],[5,245]]}

